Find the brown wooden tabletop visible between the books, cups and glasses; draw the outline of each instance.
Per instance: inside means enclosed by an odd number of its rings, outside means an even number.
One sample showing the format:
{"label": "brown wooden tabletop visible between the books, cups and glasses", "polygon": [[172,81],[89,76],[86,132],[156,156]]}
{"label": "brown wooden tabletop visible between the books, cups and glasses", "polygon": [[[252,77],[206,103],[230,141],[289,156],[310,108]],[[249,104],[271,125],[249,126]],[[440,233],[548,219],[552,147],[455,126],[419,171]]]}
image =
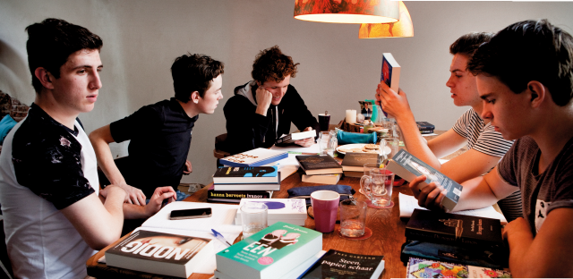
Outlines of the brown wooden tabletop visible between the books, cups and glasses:
{"label": "brown wooden tabletop visible between the books, cups and glasses", "polygon": [[[442,133],[443,131],[440,131]],[[426,138],[428,139],[428,138]],[[431,139],[431,138],[430,138]],[[465,150],[460,150],[456,152],[453,156],[458,156]],[[449,158],[449,157],[447,157]],[[338,184],[349,185],[355,191],[355,198],[358,200],[366,200],[362,194],[359,193],[360,189],[360,179],[354,177],[344,177]],[[320,185],[315,183],[307,183],[301,181],[301,175],[299,173],[293,173],[287,177],[283,182],[281,182],[281,188],[278,191],[274,191],[272,198],[282,199],[287,198],[288,193],[286,190],[301,187],[301,186],[313,186]],[[207,200],[207,190],[210,185],[204,187],[203,189],[195,192],[192,196],[185,199],[185,201],[194,202],[205,202]],[[366,216],[366,226],[370,228],[373,232],[372,237],[363,241],[350,241],[338,237],[336,231],[339,230],[339,224],[335,226],[335,232],[323,233],[322,235],[322,249],[338,249],[344,252],[363,254],[363,255],[383,255],[385,260],[384,272],[381,278],[403,278],[406,275],[406,266],[400,261],[400,248],[401,245],[406,241],[405,230],[406,222],[400,220],[399,214],[399,202],[398,193],[403,193],[411,195],[410,190],[406,185],[400,187],[394,187],[392,192],[392,201],[394,202],[394,207],[389,209],[375,209],[368,207]],[[307,217],[304,222],[304,226],[310,229],[314,229],[314,220],[311,217]],[[121,238],[115,243],[122,241],[126,236]],[[238,241],[238,240],[237,240]],[[235,241],[236,242],[236,241]],[[123,268],[110,267],[105,264],[98,263],[98,258],[101,258],[105,251],[112,247],[114,244],[107,246],[107,248],[100,250],[96,255],[92,256],[87,261],[88,275],[99,277],[99,278],[171,278],[162,275],[150,275],[140,272],[135,272],[131,270],[126,270]],[[209,279],[212,275],[200,275],[192,274],[190,279]]]}

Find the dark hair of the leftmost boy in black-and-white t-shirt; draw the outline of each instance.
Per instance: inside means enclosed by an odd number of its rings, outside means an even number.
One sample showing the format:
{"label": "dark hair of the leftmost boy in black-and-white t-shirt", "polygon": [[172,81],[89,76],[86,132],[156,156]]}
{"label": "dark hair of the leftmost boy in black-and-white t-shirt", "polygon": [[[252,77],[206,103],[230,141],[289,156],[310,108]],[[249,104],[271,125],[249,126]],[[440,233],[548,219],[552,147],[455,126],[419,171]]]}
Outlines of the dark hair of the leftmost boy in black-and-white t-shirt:
{"label": "dark hair of the leftmost boy in black-and-white t-shirt", "polygon": [[28,32],[28,66],[32,74],[32,86],[39,94],[42,83],[36,77],[36,69],[43,67],[56,79],[60,78],[60,67],[68,57],[81,49],[97,49],[103,46],[98,35],[81,26],[58,19],[46,19],[26,27]]}

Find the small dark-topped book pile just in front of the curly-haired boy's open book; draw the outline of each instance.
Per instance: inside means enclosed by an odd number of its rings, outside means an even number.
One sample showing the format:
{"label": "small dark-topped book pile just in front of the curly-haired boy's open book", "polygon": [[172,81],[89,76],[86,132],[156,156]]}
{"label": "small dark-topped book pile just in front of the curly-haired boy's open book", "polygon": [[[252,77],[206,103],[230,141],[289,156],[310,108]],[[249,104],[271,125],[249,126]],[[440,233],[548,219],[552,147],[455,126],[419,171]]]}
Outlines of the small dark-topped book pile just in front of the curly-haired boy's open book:
{"label": "small dark-topped book pile just in front of the curly-haired boy's open book", "polygon": [[329,155],[298,155],[298,164],[303,170],[302,181],[321,184],[336,184],[342,167]]}

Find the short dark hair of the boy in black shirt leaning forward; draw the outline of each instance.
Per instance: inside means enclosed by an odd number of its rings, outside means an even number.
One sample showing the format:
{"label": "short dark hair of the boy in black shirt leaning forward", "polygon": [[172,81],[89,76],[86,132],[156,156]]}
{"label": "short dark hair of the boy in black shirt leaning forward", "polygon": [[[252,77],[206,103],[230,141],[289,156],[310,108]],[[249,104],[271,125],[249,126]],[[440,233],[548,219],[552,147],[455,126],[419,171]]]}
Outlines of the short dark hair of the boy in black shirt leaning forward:
{"label": "short dark hair of the boy in black shirt leaning forward", "polygon": [[210,88],[210,81],[223,74],[225,65],[207,55],[182,55],[171,65],[175,98],[187,103],[192,92],[200,97]]}

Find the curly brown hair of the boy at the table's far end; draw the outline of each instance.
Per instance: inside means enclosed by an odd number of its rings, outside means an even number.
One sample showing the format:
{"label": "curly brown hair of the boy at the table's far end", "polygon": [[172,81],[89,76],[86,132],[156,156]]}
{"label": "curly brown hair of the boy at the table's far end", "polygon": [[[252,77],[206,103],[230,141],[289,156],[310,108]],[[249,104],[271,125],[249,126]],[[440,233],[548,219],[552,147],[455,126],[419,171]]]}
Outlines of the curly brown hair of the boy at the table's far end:
{"label": "curly brown hair of the boy at the table's far end", "polygon": [[296,76],[296,65],[293,58],[283,55],[278,46],[269,47],[254,58],[252,63],[252,79],[260,82],[273,80],[280,82],[285,80],[287,75],[292,78]]}

